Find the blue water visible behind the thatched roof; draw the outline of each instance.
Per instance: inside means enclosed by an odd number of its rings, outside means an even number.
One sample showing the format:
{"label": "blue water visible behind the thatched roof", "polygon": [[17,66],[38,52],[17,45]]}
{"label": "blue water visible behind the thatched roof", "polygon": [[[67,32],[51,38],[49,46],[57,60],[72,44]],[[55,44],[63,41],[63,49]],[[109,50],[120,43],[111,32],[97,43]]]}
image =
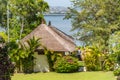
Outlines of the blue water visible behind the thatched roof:
{"label": "blue water visible behind the thatched roof", "polygon": [[[72,23],[71,20],[64,19],[64,15],[46,15],[44,16],[47,24],[51,21],[51,25],[63,31],[64,33],[73,36],[75,31],[71,31]],[[74,40],[76,45],[82,45],[81,42]]]}

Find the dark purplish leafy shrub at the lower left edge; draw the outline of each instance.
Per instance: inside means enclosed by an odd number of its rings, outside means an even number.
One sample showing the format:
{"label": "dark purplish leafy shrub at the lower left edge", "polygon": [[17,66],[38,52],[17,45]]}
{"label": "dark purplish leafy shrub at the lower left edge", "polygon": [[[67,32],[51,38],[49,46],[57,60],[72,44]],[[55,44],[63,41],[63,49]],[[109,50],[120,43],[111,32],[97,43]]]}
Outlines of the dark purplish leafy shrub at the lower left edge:
{"label": "dark purplish leafy shrub at the lower left edge", "polygon": [[[0,38],[1,39],[1,38]],[[14,65],[8,56],[8,47],[0,42],[0,80],[11,80],[11,74],[14,73]]]}

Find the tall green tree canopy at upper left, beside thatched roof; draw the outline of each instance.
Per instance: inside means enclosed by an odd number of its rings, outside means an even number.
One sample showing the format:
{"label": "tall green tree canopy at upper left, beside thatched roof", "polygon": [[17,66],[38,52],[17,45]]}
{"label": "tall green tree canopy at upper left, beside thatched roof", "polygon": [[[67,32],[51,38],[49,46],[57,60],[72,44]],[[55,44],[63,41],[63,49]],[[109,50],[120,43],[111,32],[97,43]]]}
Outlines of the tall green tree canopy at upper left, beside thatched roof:
{"label": "tall green tree canopy at upper left, beside thatched roof", "polygon": [[48,10],[44,0],[0,0],[0,26],[10,29],[10,37],[21,39],[44,21]]}

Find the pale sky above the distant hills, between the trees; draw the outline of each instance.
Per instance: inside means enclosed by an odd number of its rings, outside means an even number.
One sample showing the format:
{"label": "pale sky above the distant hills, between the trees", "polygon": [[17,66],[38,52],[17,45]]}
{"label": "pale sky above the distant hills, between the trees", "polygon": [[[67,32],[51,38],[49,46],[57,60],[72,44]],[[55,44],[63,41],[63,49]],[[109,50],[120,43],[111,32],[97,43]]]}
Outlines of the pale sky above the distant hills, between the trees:
{"label": "pale sky above the distant hills, between the trees", "polygon": [[44,0],[48,2],[50,6],[64,6],[69,7],[71,5],[70,0]]}

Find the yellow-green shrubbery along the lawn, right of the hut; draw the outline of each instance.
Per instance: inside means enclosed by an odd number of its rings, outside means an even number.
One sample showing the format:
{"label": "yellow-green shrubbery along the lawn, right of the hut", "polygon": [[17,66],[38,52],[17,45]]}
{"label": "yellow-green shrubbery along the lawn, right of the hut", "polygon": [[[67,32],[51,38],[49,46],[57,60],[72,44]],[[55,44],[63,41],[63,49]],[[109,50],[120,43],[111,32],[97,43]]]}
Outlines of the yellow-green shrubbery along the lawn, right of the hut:
{"label": "yellow-green shrubbery along the lawn, right of the hut", "polygon": [[85,66],[88,71],[113,71],[116,61],[115,54],[103,54],[97,47],[88,46],[84,51]]}

